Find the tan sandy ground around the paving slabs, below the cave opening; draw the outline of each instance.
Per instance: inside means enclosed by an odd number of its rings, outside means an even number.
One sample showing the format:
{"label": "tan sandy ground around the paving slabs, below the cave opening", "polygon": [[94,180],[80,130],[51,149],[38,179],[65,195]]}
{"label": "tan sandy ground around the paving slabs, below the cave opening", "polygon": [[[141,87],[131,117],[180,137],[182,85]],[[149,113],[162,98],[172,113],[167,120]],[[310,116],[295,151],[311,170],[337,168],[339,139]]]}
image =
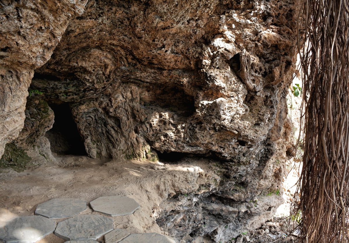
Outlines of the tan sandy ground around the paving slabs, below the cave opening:
{"label": "tan sandy ground around the paving slabs, below the cave opening", "polygon": [[[200,163],[200,162],[199,162]],[[91,202],[99,196],[125,195],[141,206],[132,215],[112,217],[114,228],[131,233],[168,234],[156,224],[158,206],[176,193],[190,193],[210,178],[205,163],[164,165],[159,162],[96,160],[85,156],[58,157],[56,165],[0,174],[0,227],[16,216],[34,215],[37,204],[71,197]],[[178,180],[180,178],[181,180]],[[180,192],[178,191],[180,188]],[[88,207],[81,214],[90,214]],[[98,239],[103,242],[103,238]],[[38,243],[61,243],[50,234]]]}

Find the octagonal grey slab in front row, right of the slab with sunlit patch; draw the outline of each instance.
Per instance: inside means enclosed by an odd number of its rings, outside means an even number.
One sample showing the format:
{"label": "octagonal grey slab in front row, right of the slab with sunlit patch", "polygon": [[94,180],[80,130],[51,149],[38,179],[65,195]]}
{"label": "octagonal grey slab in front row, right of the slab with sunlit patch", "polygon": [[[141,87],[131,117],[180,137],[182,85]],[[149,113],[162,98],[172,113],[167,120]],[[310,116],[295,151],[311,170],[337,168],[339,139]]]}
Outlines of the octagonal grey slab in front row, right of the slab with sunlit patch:
{"label": "octagonal grey slab in front row, right of the slab with sunlit patch", "polygon": [[99,214],[76,215],[59,222],[54,234],[65,240],[97,240],[113,229],[110,218]]}

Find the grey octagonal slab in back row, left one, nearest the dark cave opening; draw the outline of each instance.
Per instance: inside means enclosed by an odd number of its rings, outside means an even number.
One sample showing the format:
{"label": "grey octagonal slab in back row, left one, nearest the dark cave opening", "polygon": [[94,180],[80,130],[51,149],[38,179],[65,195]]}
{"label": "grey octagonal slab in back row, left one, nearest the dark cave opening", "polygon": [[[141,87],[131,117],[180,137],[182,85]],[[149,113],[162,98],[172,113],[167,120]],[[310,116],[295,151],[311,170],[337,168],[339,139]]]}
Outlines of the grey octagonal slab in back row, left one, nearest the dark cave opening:
{"label": "grey octagonal slab in back row, left one, nearest the dark cave opening", "polygon": [[87,209],[86,201],[76,198],[53,198],[40,203],[36,207],[35,214],[49,219],[72,217]]}

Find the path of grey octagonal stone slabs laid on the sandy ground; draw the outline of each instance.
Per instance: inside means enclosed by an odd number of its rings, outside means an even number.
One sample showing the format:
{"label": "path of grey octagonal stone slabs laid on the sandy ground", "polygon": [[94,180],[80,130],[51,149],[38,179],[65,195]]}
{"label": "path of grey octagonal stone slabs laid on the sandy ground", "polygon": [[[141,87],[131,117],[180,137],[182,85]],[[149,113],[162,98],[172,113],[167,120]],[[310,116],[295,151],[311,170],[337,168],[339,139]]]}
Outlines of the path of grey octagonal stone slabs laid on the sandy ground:
{"label": "path of grey octagonal stone slabs laid on the sandy ground", "polygon": [[[112,217],[132,214],[140,207],[134,199],[125,196],[98,197],[90,205],[94,211]],[[103,235],[105,243],[175,243],[172,238],[157,233],[130,234],[124,229],[114,229],[113,219],[100,214],[76,215],[86,209],[86,201],[80,199],[51,199],[38,204],[35,210],[37,216],[8,220],[0,228],[0,240],[6,243],[32,243],[54,232],[68,240],[66,243],[98,243],[97,238]],[[68,219],[59,222],[56,227],[52,218]]]}

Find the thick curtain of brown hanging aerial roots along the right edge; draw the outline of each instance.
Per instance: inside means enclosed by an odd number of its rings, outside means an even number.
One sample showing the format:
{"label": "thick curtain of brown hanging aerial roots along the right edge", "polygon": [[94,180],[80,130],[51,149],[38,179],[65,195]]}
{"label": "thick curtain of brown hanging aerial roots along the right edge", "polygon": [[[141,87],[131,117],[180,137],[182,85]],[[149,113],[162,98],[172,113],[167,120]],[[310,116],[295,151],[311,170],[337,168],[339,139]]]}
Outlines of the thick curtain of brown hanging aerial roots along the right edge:
{"label": "thick curtain of brown hanging aerial roots along the right edge", "polygon": [[[298,19],[303,168],[300,242],[349,242],[349,0],[305,0]],[[300,202],[297,204],[296,202]]]}

